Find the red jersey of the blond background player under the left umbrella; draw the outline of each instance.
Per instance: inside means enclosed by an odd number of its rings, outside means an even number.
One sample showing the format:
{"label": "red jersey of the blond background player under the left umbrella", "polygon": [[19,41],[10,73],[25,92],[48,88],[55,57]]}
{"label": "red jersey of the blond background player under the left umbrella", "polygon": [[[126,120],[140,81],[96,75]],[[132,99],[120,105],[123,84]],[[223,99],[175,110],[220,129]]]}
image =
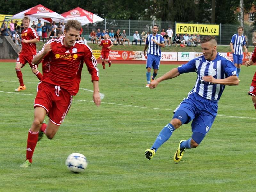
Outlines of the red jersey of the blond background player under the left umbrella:
{"label": "red jersey of the blond background player under the left umbrella", "polygon": [[[20,34],[22,39],[31,40],[37,38],[39,40],[39,36],[36,33],[36,30],[32,27],[28,27],[23,29]],[[22,52],[23,55],[36,55],[36,43],[22,43]]]}

